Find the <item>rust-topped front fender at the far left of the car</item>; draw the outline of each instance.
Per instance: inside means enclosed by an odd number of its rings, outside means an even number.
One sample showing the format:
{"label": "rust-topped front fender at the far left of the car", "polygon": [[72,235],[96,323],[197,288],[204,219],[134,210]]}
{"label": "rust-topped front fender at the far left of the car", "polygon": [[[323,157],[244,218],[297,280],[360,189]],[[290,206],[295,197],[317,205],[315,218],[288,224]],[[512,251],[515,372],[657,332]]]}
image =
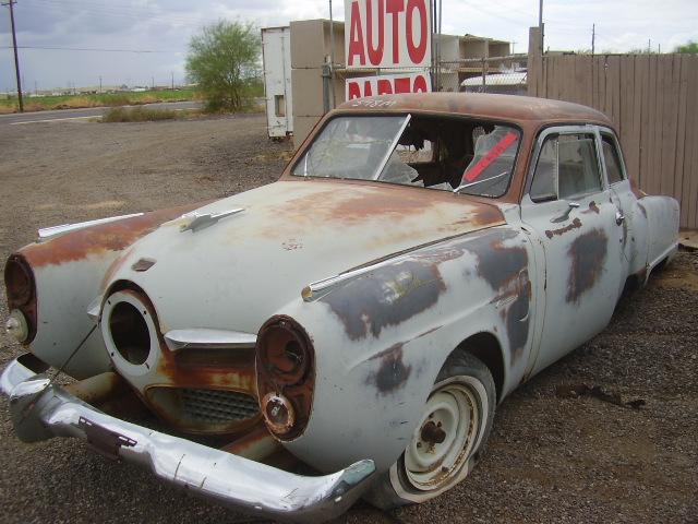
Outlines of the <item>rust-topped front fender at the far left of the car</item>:
{"label": "rust-topped front fender at the far left of the car", "polygon": [[[99,296],[103,283],[116,271],[120,255],[136,240],[163,223],[202,204],[172,207],[140,216],[79,228],[45,241],[31,243],[13,253],[28,267],[34,284],[32,353],[76,379],[109,370],[109,357],[94,319],[87,315],[91,302]],[[5,271],[5,287],[11,278]],[[14,308],[8,294],[8,306]],[[75,358],[67,360],[81,341]]]}

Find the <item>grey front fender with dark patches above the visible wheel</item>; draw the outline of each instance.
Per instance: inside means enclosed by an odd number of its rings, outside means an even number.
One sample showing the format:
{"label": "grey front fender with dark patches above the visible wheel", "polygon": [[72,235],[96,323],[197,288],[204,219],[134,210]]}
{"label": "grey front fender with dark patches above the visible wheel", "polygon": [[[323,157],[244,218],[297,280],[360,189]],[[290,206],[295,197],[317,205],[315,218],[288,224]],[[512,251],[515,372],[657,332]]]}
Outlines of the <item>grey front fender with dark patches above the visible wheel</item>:
{"label": "grey front fender with dark patches above the visible wheel", "polygon": [[349,272],[288,305],[282,313],[313,340],[316,376],[309,425],[287,448],[322,471],[357,457],[387,469],[444,361],[477,333],[500,341],[505,383],[518,382],[531,338],[529,249],[520,231],[491,228]]}

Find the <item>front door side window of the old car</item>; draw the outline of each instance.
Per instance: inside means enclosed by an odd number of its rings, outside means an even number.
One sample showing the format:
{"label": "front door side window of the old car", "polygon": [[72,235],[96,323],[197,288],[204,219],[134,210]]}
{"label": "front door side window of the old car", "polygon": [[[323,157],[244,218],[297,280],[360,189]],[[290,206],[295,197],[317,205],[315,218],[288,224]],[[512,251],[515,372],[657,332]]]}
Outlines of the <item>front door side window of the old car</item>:
{"label": "front door side window of the old car", "polygon": [[531,200],[571,199],[601,191],[600,175],[592,134],[549,136],[535,165]]}

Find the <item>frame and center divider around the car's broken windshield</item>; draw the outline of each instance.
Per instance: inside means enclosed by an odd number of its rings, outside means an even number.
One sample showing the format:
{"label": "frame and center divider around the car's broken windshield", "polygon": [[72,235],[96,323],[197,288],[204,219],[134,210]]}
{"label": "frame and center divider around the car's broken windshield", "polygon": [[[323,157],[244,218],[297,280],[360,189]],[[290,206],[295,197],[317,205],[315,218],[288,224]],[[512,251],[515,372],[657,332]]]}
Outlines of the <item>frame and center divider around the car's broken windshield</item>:
{"label": "frame and center divider around the car's broken windshield", "polygon": [[[510,176],[508,177],[508,181],[507,181],[507,186],[506,189],[502,192],[502,194],[497,195],[497,196],[492,196],[492,195],[488,195],[488,194],[473,194],[473,193],[468,193],[465,192],[462,190],[460,191],[456,191],[456,189],[458,188],[454,188],[454,190],[449,190],[449,191],[445,191],[443,189],[440,188],[433,188],[433,187],[419,187],[419,186],[410,186],[410,184],[405,184],[405,183],[399,183],[399,182],[393,182],[389,180],[376,180],[376,179],[364,179],[364,178],[353,178],[353,177],[327,177],[327,176],[318,176],[318,175],[312,175],[312,174],[308,174],[308,175],[296,175],[293,171],[299,167],[299,165],[303,162],[303,158],[305,157],[306,153],[310,151],[310,148],[312,147],[313,143],[315,142],[315,140],[323,133],[323,131],[325,130],[325,128],[336,118],[341,118],[341,117],[353,117],[353,118],[366,118],[366,117],[396,117],[396,116],[409,116],[410,118],[408,118],[408,123],[409,121],[411,121],[412,118],[416,117],[420,117],[420,118],[430,118],[430,119],[443,119],[443,120],[457,120],[457,121],[462,121],[462,122],[474,122],[474,123],[488,123],[488,124],[493,124],[493,126],[506,126],[508,128],[510,128],[512,130],[515,130],[518,133],[518,140],[517,140],[517,147],[516,147],[516,152],[514,154],[514,163],[512,165],[512,171],[510,171]],[[401,129],[400,133],[398,134],[398,139],[399,136],[402,134],[405,128]],[[392,145],[390,150],[388,151],[388,155],[387,158],[389,159],[389,156],[393,154],[393,152],[396,150],[397,147],[397,140],[396,143]],[[510,200],[510,191],[512,188],[514,187],[514,180],[515,178],[519,175],[518,171],[520,170],[520,166],[521,166],[521,154],[522,154],[522,146],[524,143],[526,141],[526,133],[524,128],[521,127],[521,124],[517,121],[513,121],[513,120],[503,120],[500,118],[492,118],[490,116],[479,116],[479,115],[458,115],[458,114],[448,114],[448,112],[436,112],[436,111],[420,111],[420,110],[376,110],[376,111],[358,111],[358,110],[352,110],[352,109],[339,109],[339,110],[334,110],[333,112],[326,115],[326,117],[321,120],[318,122],[318,126],[312,130],[312,132],[305,138],[305,140],[303,141],[303,143],[301,144],[301,147],[299,147],[299,150],[297,151],[296,155],[293,156],[293,158],[288,163],[284,176],[281,177],[282,179],[286,180],[304,180],[304,179],[314,179],[314,180],[344,180],[344,181],[351,181],[351,182],[359,182],[359,183],[382,183],[382,184],[388,184],[392,187],[400,187],[400,188],[410,188],[410,189],[414,189],[414,190],[431,190],[431,191],[438,191],[441,193],[452,193],[455,195],[464,195],[464,196],[468,196],[468,198],[474,198],[474,199],[483,199],[485,201],[492,201],[492,200]],[[526,160],[526,159],[525,159]],[[387,164],[387,163],[385,163]],[[382,166],[382,169],[385,169],[385,165]],[[467,166],[466,166],[467,167]],[[464,167],[464,172],[466,170],[466,167]],[[380,177],[382,170],[377,170],[376,175]]]}

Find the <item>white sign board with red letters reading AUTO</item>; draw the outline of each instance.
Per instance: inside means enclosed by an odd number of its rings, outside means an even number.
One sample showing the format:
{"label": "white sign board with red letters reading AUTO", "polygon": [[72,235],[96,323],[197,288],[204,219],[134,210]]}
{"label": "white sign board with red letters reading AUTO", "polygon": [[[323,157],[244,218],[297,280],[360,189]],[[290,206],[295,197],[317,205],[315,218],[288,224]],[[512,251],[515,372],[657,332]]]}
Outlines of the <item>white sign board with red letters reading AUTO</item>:
{"label": "white sign board with red letters reading AUTO", "polygon": [[426,68],[430,0],[345,0],[347,69]]}

